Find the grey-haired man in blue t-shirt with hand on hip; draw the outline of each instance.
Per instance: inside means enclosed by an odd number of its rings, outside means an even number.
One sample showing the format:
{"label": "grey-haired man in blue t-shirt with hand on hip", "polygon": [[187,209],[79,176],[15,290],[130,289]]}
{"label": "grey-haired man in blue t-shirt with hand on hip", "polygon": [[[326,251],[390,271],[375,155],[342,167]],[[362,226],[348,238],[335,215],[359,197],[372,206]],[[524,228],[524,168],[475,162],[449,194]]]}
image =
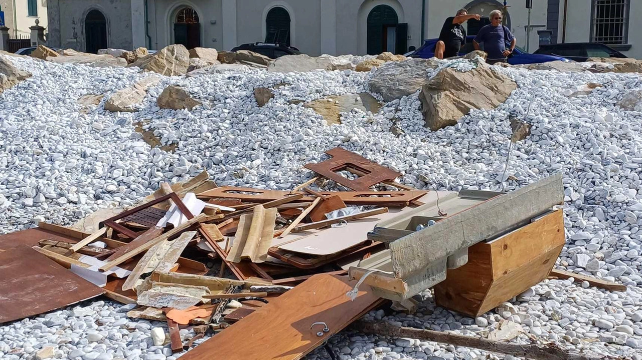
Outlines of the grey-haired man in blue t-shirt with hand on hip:
{"label": "grey-haired man in blue t-shirt with hand on hip", "polygon": [[[512,54],[517,44],[517,39],[510,33],[510,30],[501,24],[503,15],[499,10],[490,12],[490,24],[480,29],[473,40],[475,50],[480,50],[480,43],[483,43],[483,50],[488,54],[487,63],[505,63]],[[510,49],[506,43],[510,42]]]}

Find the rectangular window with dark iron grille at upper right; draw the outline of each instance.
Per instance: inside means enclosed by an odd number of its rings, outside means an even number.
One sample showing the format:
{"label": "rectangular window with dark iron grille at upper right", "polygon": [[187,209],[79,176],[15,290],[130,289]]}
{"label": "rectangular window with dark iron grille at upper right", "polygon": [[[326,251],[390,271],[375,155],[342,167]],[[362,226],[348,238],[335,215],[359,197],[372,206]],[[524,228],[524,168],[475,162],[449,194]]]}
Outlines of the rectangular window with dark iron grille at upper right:
{"label": "rectangular window with dark iron grille at upper right", "polygon": [[593,0],[591,42],[627,44],[630,0]]}

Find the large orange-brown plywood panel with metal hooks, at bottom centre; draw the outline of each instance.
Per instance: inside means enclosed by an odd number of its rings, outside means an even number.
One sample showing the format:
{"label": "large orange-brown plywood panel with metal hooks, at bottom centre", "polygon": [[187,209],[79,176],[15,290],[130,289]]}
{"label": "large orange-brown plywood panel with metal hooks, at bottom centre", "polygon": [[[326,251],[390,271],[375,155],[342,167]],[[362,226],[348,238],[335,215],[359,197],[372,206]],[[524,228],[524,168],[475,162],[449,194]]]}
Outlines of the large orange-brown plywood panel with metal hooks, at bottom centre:
{"label": "large orange-brown plywood panel with metal hooks, at bottom centre", "polygon": [[[225,354],[226,360],[298,360],[327,341],[361,314],[381,301],[361,290],[351,301],[345,295],[356,282],[346,277],[315,275],[270,301],[225,331],[187,352],[182,360],[210,360]],[[325,322],[323,336],[317,332]],[[252,334],[252,341],[246,341]]]}

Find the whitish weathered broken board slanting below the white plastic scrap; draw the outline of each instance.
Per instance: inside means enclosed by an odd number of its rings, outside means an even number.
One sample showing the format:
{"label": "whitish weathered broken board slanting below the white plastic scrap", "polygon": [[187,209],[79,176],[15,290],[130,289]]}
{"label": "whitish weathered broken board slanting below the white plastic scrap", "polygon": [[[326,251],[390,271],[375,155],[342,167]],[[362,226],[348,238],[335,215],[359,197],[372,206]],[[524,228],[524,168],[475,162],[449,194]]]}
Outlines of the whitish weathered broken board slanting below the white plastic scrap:
{"label": "whitish weathered broken board slanting below the white plastic scrap", "polygon": [[[150,248],[148,252],[143,255],[132,274],[127,277],[123,290],[133,290],[137,288],[140,277],[143,274],[148,274],[159,269],[159,272],[169,272],[169,269],[177,261],[180,253],[185,249],[187,243],[196,235],[196,231],[186,231],[180,234],[176,240],[160,241]],[[138,292],[138,291],[137,291]]]}

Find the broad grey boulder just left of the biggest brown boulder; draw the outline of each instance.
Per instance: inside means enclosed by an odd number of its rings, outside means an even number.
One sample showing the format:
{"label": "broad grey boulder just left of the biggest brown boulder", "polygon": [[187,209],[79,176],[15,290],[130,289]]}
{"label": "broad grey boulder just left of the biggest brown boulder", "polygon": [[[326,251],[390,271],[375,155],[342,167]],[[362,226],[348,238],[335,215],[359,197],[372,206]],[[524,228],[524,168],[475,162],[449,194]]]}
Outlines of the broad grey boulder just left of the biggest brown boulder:
{"label": "broad grey boulder just left of the biggest brown boulder", "polygon": [[428,81],[428,70],[438,66],[437,58],[388,62],[377,69],[368,86],[386,102],[401,99],[421,89]]}

